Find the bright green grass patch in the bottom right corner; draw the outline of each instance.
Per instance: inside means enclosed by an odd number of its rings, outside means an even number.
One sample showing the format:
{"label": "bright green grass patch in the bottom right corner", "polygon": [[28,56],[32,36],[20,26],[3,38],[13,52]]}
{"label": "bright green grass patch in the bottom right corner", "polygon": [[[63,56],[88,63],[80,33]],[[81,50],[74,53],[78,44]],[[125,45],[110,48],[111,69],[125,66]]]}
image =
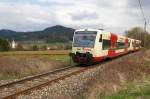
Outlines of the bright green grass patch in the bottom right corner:
{"label": "bright green grass patch in the bottom right corner", "polygon": [[[99,95],[99,99],[150,99],[150,80],[138,85],[130,84],[127,89],[111,95]],[[142,97],[142,98],[141,98]]]}

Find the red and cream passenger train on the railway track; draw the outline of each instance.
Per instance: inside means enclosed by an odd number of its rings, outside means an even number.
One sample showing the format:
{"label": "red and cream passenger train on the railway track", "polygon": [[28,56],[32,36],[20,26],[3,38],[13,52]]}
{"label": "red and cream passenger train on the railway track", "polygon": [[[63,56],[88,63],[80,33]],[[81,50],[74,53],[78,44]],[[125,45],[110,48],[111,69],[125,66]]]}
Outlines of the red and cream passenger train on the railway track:
{"label": "red and cream passenger train on the railway track", "polygon": [[141,41],[97,29],[74,32],[70,56],[79,64],[89,64],[113,58],[141,48]]}

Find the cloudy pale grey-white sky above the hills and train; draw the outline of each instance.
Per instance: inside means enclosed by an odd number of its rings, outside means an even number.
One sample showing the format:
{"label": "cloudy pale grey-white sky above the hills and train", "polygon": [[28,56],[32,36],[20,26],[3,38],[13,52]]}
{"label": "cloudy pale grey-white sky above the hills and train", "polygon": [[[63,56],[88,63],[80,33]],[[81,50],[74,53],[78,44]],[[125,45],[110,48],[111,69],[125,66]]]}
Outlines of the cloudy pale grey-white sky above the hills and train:
{"label": "cloudy pale grey-white sky above the hills and train", "polygon": [[[141,2],[149,22],[150,0]],[[143,24],[138,0],[0,0],[0,29],[38,31],[63,25],[123,33]]]}

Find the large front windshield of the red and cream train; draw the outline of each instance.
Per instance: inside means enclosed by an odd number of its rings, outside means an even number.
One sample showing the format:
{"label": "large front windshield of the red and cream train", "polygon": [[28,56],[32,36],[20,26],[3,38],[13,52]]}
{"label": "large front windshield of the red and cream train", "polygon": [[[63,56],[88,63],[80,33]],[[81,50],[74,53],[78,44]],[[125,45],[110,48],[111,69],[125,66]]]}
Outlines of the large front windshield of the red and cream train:
{"label": "large front windshield of the red and cream train", "polygon": [[94,47],[97,32],[95,31],[78,31],[74,35],[74,47]]}

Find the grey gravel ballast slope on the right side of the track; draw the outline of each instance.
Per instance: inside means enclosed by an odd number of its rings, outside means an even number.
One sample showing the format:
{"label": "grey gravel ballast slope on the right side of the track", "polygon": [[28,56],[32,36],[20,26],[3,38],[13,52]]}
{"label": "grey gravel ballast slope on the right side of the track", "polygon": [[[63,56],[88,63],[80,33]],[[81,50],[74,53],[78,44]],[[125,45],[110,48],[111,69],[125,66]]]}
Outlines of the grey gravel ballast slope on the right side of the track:
{"label": "grey gravel ballast slope on the right side of the track", "polygon": [[[28,95],[20,95],[18,99],[77,99],[85,92],[90,83],[105,66],[89,69],[73,75],[57,83],[32,91]],[[86,68],[86,67],[85,67]]]}

